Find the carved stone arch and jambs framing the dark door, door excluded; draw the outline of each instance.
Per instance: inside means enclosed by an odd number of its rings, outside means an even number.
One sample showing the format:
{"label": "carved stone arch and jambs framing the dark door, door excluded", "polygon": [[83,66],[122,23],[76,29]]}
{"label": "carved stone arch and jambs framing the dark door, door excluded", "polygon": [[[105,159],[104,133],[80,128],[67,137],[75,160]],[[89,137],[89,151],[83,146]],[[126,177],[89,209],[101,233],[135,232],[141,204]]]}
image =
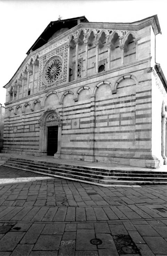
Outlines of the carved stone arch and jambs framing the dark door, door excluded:
{"label": "carved stone arch and jambs framing the dark door, door excluded", "polygon": [[61,137],[62,137],[62,121],[57,109],[48,108],[41,115],[39,119],[39,152],[42,155],[47,155],[47,127],[58,125],[58,142],[57,142],[57,153],[54,158],[61,157]]}

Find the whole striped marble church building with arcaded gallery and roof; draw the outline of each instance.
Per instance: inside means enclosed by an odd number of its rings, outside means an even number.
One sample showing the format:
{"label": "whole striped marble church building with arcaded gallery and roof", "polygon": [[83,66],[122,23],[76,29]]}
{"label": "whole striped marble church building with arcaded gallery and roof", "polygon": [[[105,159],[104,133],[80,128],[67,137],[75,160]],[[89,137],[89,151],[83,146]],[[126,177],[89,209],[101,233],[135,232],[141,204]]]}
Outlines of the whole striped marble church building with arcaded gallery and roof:
{"label": "whole striped marble church building with arcaded gallery and roof", "polygon": [[167,162],[157,15],[50,22],[6,88],[4,153],[157,168]]}

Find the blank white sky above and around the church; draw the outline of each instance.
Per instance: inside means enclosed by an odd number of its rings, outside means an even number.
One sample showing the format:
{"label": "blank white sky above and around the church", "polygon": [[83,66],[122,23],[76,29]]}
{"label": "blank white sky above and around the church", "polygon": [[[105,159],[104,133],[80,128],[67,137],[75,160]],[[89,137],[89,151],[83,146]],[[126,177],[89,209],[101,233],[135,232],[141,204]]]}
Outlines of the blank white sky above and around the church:
{"label": "blank white sky above and around the church", "polygon": [[166,0],[0,0],[0,103],[3,88],[26,57],[27,50],[50,21],[86,16],[90,22],[134,22],[157,14],[162,34],[156,36],[156,62],[167,78]]}

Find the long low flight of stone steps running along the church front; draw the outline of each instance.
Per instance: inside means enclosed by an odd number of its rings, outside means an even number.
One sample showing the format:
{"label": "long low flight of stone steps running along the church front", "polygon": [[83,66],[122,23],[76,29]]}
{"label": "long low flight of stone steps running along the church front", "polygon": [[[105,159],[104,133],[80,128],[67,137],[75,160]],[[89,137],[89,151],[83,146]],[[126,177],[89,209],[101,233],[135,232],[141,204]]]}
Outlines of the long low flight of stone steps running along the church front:
{"label": "long low flight of stone steps running along the church front", "polygon": [[[3,166],[98,185],[167,184],[167,171],[106,170],[9,157]],[[125,168],[126,169],[126,168]]]}

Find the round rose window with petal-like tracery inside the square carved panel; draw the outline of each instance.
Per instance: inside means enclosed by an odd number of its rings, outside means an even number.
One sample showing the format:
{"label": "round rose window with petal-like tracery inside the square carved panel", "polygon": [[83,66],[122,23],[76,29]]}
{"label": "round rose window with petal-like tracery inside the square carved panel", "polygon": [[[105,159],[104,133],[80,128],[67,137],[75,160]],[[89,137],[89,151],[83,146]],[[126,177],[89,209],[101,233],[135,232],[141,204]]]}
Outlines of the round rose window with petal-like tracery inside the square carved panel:
{"label": "round rose window with petal-like tracery inside the square carved panel", "polygon": [[48,84],[53,84],[59,79],[62,73],[62,61],[59,58],[54,58],[49,61],[44,70],[44,79]]}

